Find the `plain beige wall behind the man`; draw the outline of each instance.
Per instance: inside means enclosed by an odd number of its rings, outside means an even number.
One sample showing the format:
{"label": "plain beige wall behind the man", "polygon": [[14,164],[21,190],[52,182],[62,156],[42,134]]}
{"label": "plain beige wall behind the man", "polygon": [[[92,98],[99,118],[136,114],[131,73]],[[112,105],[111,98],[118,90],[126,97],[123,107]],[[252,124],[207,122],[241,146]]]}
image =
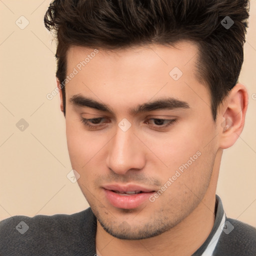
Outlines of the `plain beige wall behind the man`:
{"label": "plain beige wall behind the man", "polygon": [[[55,43],[43,25],[49,2],[0,0],[0,219],[88,207],[66,177],[71,165],[59,96],[46,98],[56,87]],[[24,29],[21,15],[29,21]],[[249,22],[239,78],[249,94],[246,123],[224,151],[217,194],[227,216],[256,226],[256,0]],[[23,131],[16,127],[21,118],[29,124]]]}

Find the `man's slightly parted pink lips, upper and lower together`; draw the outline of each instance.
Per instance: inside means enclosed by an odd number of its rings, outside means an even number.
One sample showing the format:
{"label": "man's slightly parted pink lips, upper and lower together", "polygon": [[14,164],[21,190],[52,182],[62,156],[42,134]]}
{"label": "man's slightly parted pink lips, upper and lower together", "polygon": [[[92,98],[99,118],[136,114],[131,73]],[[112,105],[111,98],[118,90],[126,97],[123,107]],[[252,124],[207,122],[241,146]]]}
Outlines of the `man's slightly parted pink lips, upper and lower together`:
{"label": "man's slightly parted pink lips, upper and lower together", "polygon": [[148,197],[155,190],[138,185],[106,185],[103,187],[107,201],[116,208],[134,209],[142,203],[149,202]]}

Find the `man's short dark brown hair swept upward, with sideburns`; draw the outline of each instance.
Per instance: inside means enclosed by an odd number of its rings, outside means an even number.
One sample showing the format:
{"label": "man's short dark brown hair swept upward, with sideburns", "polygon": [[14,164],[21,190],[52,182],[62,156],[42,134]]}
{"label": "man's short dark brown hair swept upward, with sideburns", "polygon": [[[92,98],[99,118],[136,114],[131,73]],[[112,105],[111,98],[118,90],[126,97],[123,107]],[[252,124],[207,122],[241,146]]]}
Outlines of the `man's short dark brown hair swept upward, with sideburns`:
{"label": "man's short dark brown hair swept upward, with sideburns", "polygon": [[[71,45],[114,50],[196,42],[197,76],[209,87],[216,120],[217,107],[241,70],[248,9],[248,0],[53,0],[44,24],[56,35],[56,76],[61,83]],[[227,23],[226,16],[234,22],[230,28],[222,23]],[[65,87],[61,90],[65,115]]]}

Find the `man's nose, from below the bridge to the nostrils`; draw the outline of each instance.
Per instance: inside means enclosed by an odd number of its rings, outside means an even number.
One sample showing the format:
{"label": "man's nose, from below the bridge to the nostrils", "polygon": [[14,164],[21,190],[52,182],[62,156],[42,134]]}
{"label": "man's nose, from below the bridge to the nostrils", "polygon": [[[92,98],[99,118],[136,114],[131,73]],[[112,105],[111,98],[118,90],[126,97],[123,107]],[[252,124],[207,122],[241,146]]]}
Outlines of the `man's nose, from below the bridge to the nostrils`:
{"label": "man's nose, from below the bridge to the nostrils", "polygon": [[109,141],[107,167],[117,174],[125,174],[130,169],[142,169],[145,165],[143,144],[133,133],[117,127],[115,136]]}

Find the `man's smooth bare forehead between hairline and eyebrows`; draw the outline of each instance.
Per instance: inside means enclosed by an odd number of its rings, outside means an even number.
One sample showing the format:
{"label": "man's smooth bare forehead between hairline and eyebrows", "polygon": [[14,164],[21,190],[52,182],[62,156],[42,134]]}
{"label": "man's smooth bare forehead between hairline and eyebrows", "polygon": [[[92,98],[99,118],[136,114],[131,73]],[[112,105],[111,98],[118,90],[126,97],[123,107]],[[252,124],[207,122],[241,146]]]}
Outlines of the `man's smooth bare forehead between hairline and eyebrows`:
{"label": "man's smooth bare forehead between hairline and eyebrows", "polygon": [[197,45],[187,41],[112,51],[73,46],[66,74],[75,75],[65,85],[67,97],[82,93],[102,102],[111,99],[117,108],[166,95],[198,100],[208,91],[197,79],[197,55]]}

